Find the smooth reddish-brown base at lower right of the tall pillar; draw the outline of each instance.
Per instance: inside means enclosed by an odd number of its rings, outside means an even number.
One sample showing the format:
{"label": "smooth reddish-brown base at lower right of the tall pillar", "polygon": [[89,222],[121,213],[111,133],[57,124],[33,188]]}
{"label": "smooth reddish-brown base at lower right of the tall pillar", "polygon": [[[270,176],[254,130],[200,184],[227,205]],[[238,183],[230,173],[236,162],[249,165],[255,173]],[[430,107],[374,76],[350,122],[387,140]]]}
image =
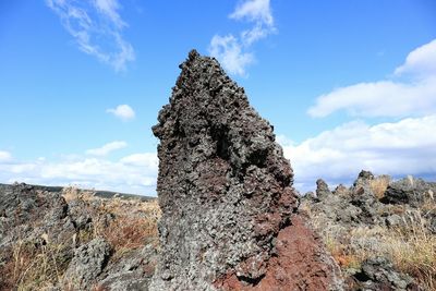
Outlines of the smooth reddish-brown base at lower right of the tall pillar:
{"label": "smooth reddish-brown base at lower right of the tall pillar", "polygon": [[292,225],[277,237],[277,256],[272,256],[266,275],[258,282],[245,282],[234,272],[217,280],[220,290],[306,290],[322,291],[339,289],[339,268],[326,255],[319,238],[304,223],[301,215],[292,217]]}

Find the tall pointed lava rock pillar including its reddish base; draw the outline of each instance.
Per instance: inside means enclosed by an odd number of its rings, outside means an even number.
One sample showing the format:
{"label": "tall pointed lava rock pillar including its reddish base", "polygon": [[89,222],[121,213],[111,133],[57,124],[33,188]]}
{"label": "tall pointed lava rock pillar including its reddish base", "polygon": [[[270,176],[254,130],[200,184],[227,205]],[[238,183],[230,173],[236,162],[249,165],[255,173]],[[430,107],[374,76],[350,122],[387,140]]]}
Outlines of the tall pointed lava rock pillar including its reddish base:
{"label": "tall pointed lava rock pillar including its reddish base", "polygon": [[298,214],[272,126],[219,63],[191,51],[159,137],[161,250],[150,290],[336,290],[338,268]]}

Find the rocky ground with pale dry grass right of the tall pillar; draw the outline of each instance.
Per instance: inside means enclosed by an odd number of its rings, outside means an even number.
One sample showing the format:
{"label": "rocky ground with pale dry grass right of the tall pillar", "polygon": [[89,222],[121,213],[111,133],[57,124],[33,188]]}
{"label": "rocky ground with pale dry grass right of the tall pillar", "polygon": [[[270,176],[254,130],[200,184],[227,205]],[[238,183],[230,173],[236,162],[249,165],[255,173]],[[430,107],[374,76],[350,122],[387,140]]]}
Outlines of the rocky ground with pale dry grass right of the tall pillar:
{"label": "rocky ground with pale dry grass right of the tall pillar", "polygon": [[300,210],[340,265],[348,290],[436,290],[436,183],[362,171],[351,187],[316,184]]}

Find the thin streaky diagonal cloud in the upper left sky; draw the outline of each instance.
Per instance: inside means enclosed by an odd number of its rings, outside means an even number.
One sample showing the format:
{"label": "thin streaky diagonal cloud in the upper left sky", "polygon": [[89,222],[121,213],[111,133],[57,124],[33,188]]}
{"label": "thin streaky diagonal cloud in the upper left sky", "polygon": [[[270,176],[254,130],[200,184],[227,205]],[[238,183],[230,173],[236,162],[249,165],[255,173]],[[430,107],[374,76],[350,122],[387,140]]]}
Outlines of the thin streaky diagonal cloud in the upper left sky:
{"label": "thin streaky diagonal cloud in the upper left sky", "polygon": [[46,0],[62,25],[85,53],[123,71],[135,59],[131,44],[122,37],[128,24],[119,14],[117,0]]}

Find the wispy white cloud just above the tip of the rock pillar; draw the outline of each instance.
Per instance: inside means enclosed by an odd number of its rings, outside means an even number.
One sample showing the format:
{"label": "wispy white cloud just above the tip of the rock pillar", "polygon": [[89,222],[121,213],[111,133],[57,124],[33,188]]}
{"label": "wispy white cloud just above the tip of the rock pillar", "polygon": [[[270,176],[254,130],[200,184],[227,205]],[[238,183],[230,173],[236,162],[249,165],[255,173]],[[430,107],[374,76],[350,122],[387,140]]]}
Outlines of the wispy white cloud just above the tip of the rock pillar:
{"label": "wispy white cloud just above the tip of the rock pillar", "polygon": [[215,35],[209,45],[209,53],[230,74],[245,75],[246,68],[255,61],[254,53],[250,52],[252,45],[276,31],[269,0],[245,0],[237,5],[229,17],[245,21],[253,26],[239,36]]}

